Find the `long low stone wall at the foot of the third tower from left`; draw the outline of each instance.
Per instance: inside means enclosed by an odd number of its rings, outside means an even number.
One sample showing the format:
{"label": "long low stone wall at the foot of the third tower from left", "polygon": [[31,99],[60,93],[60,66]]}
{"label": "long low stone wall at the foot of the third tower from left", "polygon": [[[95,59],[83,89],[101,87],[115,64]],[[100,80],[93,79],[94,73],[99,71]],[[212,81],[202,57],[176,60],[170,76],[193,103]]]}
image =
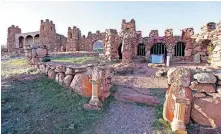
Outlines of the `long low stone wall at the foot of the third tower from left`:
{"label": "long low stone wall at the foot of the third tower from left", "polygon": [[49,53],[50,56],[75,56],[75,57],[82,57],[82,56],[99,56],[99,53],[96,52],[89,52],[89,51],[75,51],[75,52],[51,52]]}

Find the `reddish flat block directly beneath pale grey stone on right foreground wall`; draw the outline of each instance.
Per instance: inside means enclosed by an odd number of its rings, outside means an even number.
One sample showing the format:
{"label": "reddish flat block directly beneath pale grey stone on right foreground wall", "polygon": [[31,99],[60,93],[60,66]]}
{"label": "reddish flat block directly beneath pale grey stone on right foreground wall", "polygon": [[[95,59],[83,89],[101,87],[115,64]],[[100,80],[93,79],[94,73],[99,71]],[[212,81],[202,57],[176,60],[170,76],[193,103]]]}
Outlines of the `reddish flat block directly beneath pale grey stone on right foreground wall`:
{"label": "reddish flat block directly beneath pale grey stone on right foreground wall", "polygon": [[191,82],[190,88],[192,90],[195,90],[196,92],[208,92],[208,93],[216,92],[215,84],[198,83],[196,81]]}

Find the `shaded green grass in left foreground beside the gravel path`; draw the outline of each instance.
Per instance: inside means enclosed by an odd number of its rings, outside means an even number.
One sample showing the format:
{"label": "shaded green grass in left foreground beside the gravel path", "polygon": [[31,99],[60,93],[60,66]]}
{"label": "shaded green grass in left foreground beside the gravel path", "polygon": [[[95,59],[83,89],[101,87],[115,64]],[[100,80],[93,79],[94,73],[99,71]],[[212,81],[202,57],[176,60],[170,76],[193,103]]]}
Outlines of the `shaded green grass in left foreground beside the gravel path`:
{"label": "shaded green grass in left foreground beside the gravel path", "polygon": [[110,97],[101,111],[86,111],[88,98],[71,94],[46,77],[15,81],[2,91],[2,133],[90,133],[102,119]]}

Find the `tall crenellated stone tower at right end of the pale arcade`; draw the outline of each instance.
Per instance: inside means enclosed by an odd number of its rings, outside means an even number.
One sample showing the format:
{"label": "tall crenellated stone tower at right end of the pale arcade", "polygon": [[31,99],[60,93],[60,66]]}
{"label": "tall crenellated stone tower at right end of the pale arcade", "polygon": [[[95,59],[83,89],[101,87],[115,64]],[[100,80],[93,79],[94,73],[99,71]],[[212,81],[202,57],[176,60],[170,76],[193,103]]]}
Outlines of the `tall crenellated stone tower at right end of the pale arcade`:
{"label": "tall crenellated stone tower at right end of the pale arcade", "polygon": [[40,44],[46,45],[47,48],[50,51],[53,51],[54,49],[57,49],[57,42],[56,42],[56,29],[55,24],[53,21],[49,21],[49,19],[46,19],[44,22],[41,20],[41,26],[40,26]]}

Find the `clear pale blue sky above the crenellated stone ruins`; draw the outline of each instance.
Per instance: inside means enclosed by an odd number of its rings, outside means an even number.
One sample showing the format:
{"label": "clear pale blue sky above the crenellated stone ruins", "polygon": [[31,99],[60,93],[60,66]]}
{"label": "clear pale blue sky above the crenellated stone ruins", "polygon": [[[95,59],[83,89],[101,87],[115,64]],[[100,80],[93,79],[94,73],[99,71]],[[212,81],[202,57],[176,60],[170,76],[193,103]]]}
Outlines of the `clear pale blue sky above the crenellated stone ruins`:
{"label": "clear pale blue sky above the crenellated stone ruins", "polygon": [[67,36],[69,26],[82,34],[121,28],[122,19],[135,19],[137,30],[148,36],[151,29],[160,35],[172,28],[194,27],[195,33],[210,21],[221,21],[221,2],[1,2],[0,44],[5,44],[7,28],[18,25],[22,32],[38,31],[41,19],[53,20],[57,33]]}

